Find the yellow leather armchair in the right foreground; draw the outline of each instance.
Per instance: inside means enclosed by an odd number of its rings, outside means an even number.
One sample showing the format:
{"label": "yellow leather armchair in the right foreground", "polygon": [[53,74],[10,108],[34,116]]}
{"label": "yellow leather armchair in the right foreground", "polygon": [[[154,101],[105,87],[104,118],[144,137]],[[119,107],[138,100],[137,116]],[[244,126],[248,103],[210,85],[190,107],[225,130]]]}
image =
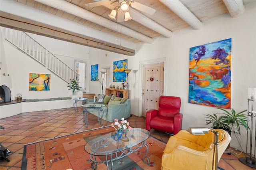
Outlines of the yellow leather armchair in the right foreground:
{"label": "yellow leather armchair in the right foreground", "polygon": [[[231,137],[225,130],[219,132],[218,162],[226,150]],[[162,170],[211,170],[214,149],[210,148],[214,134],[193,135],[180,130],[171,136],[162,155]]]}

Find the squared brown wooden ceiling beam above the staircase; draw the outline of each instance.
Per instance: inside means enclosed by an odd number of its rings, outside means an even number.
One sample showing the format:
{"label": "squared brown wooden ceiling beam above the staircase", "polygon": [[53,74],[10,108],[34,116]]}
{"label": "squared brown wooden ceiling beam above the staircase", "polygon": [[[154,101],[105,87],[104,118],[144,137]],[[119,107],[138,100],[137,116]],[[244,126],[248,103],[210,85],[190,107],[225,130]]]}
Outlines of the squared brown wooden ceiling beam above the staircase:
{"label": "squared brown wooden ceiling beam above the staircase", "polygon": [[0,11],[0,26],[38,34],[50,38],[55,38],[66,42],[77,43],[88,47],[103,49],[114,53],[120,53],[128,56],[135,55],[134,49],[129,49],[113,43],[90,38],[88,36],[63,30],[61,28],[57,28],[47,24],[42,24],[40,22],[9,14],[3,11]]}

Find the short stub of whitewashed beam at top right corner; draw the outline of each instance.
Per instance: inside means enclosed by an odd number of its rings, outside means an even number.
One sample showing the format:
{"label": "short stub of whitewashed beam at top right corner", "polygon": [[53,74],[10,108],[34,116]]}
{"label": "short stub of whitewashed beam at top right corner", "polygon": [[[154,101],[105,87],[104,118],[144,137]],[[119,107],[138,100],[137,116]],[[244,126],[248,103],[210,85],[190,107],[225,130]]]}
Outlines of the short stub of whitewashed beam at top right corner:
{"label": "short stub of whitewashed beam at top right corner", "polygon": [[242,0],[223,0],[228,12],[232,17],[241,16],[244,13],[244,3]]}

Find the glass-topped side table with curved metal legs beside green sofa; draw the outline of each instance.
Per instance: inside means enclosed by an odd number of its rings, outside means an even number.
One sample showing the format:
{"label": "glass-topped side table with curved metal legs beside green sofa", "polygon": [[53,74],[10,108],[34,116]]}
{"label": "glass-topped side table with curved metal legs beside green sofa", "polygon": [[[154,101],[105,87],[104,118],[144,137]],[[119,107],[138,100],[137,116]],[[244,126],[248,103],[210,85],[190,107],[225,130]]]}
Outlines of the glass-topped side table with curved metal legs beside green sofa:
{"label": "glass-topped side table with curved metal legs beside green sofa", "polygon": [[[100,121],[100,125],[103,125],[102,117],[103,117],[104,111],[103,111],[102,107],[105,107],[105,105],[85,104],[85,105],[82,105],[82,107],[84,107],[83,114],[84,114],[84,123],[85,123],[86,127],[88,127],[88,113],[95,112],[95,111],[98,111],[98,122]],[[101,117],[100,117],[100,114],[101,114]]]}

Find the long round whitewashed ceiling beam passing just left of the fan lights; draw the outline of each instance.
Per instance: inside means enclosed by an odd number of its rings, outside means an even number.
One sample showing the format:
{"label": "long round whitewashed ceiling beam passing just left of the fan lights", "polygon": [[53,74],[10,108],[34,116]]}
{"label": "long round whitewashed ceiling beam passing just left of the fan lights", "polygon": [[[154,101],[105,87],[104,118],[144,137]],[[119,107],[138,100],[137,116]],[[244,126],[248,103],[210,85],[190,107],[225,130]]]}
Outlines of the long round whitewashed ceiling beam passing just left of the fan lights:
{"label": "long round whitewashed ceiling beam passing just left of the fan lights", "polygon": [[117,24],[115,22],[112,22],[106,18],[103,18],[101,16],[98,16],[88,10],[85,10],[83,8],[80,8],[79,6],[76,6],[74,4],[71,4],[70,2],[64,1],[64,0],[35,0],[37,2],[40,2],[42,4],[52,6],[54,8],[57,8],[59,10],[62,10],[64,12],[68,12],[69,14],[72,14],[74,16],[79,16],[81,18],[84,18],[88,21],[94,22],[96,24],[99,24],[101,26],[104,26],[106,28],[109,28],[111,30],[120,32],[124,35],[130,36],[132,38],[136,38],[138,40],[141,40],[143,42],[152,43],[152,38],[145,36],[143,34],[140,34],[130,28],[127,28],[125,26],[122,26],[120,24]]}

